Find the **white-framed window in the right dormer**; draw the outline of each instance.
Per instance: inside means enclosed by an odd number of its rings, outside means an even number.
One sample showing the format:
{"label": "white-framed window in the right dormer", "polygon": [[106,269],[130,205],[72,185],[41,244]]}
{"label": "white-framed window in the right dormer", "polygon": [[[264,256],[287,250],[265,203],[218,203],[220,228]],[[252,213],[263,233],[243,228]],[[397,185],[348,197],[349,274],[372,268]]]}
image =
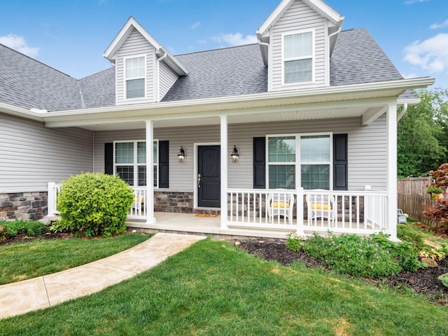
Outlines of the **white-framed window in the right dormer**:
{"label": "white-framed window in the right dormer", "polygon": [[314,31],[283,34],[283,84],[314,81]]}

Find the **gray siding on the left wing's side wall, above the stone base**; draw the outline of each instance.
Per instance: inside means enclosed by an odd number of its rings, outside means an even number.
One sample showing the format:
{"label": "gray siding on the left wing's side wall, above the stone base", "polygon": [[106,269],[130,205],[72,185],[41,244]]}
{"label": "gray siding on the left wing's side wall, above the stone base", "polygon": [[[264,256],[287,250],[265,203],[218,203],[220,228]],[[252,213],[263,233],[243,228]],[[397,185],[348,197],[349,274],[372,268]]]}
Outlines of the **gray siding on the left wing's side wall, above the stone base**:
{"label": "gray siding on the left wing's side wall, above the stone base", "polygon": [[92,132],[45,128],[0,113],[0,193],[45,191],[48,182],[92,172]]}

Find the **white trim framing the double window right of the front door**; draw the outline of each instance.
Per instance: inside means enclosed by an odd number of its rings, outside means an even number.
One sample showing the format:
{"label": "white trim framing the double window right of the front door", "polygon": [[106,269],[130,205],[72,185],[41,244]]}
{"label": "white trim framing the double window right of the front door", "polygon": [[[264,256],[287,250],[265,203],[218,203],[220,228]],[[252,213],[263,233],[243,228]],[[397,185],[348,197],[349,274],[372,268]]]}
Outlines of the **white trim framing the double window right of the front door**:
{"label": "white trim framing the double window right of the front door", "polygon": [[[318,135],[328,135],[330,137],[330,162],[301,162],[300,161],[300,138],[310,137]],[[272,162],[269,163],[269,138],[272,137],[295,137],[295,162]],[[316,133],[288,133],[288,134],[266,134],[265,141],[265,162],[266,162],[266,172],[265,179],[267,183],[267,188],[269,188],[269,165],[295,165],[295,190],[302,186],[302,165],[330,165],[330,188],[333,190],[333,133],[332,132],[316,132]]]}

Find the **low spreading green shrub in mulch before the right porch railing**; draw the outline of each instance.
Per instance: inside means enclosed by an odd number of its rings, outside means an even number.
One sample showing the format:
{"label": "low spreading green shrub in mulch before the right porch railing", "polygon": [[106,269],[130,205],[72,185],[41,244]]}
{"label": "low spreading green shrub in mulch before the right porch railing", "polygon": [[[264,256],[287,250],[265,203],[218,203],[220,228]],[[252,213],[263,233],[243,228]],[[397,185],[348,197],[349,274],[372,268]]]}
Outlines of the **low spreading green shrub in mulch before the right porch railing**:
{"label": "low spreading green shrub in mulch before the right porch railing", "polygon": [[382,233],[370,237],[337,237],[331,232],[328,237],[314,234],[304,241],[303,251],[339,273],[368,278],[424,266],[417,259],[417,252],[411,243],[394,243]]}

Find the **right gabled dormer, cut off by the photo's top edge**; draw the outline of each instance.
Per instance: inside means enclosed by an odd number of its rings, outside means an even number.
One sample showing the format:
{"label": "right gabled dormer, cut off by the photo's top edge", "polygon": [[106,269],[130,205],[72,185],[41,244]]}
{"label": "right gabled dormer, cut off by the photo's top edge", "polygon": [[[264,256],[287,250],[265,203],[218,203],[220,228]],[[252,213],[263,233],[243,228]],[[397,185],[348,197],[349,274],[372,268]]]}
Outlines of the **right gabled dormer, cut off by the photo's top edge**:
{"label": "right gabled dormer, cut off by the photo's top edge", "polygon": [[321,0],[283,0],[257,31],[268,91],[330,85],[344,17]]}

